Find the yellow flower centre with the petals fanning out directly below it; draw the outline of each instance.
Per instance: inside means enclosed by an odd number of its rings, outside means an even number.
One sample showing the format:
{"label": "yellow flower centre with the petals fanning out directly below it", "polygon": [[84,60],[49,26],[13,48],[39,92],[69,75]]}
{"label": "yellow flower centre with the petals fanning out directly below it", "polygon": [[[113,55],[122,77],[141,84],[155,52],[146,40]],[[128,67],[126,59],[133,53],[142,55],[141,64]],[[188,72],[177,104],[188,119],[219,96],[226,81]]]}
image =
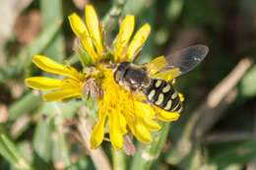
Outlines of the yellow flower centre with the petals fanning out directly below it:
{"label": "yellow flower centre with the petals fanning out directly below it", "polygon": [[[91,146],[96,148],[103,141],[103,127],[106,117],[109,121],[109,137],[114,148],[122,147],[127,126],[141,142],[152,142],[149,131],[159,131],[160,125],[154,120],[154,109],[142,101],[145,96],[134,94],[115,83],[111,70],[105,70],[101,80],[104,91],[99,100],[99,120],[91,137]],[[100,134],[101,136],[98,136]]]}

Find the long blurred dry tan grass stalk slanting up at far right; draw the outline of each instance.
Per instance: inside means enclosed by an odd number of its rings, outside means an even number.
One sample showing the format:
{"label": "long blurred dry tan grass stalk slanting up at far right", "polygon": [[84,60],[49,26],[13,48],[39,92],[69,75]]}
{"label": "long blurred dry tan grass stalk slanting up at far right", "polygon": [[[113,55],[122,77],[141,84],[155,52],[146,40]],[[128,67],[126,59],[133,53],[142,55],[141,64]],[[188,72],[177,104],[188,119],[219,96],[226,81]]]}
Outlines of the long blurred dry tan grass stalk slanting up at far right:
{"label": "long blurred dry tan grass stalk slanting up at far right", "polygon": [[[250,59],[242,59],[192,113],[192,116],[188,119],[188,123],[183,130],[184,134],[177,145],[180,158],[184,157],[192,149],[193,143],[190,140],[191,136],[196,136],[196,139],[200,139],[200,137],[206,134],[219,120],[223,113],[222,111],[235,99],[236,92],[234,86],[251,65],[252,61]],[[169,162],[173,161],[171,156],[170,154],[170,156],[168,156],[169,158],[167,158]]]}

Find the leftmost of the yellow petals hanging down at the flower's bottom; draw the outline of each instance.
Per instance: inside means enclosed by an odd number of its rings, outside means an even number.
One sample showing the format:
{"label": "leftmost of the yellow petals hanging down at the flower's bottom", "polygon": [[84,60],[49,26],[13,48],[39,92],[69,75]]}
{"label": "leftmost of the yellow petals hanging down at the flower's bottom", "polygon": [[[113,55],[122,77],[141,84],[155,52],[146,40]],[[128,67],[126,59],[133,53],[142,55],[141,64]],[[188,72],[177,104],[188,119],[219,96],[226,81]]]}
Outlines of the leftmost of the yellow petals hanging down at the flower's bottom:
{"label": "leftmost of the yellow petals hanging down at the flower's bottom", "polygon": [[104,139],[104,126],[106,114],[99,111],[99,118],[90,139],[91,148],[96,148]]}

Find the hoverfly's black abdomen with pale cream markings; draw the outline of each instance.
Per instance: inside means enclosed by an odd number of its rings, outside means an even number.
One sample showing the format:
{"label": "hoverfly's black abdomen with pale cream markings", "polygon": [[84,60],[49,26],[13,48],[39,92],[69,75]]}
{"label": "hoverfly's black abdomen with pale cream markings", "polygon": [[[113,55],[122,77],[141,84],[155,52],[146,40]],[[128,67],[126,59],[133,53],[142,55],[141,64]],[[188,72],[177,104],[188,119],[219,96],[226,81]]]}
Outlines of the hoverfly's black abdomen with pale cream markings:
{"label": "hoverfly's black abdomen with pale cream markings", "polygon": [[142,91],[148,100],[161,109],[170,112],[180,112],[182,103],[176,89],[164,80],[152,79],[151,84],[144,87]]}

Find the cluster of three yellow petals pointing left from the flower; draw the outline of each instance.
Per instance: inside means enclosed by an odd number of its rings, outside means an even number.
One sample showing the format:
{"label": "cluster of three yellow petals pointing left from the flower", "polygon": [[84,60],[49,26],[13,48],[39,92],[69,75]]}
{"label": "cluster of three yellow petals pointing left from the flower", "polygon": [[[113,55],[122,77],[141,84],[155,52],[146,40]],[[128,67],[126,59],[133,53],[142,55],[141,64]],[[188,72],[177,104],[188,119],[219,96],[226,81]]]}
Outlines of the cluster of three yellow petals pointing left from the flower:
{"label": "cluster of three yellow petals pointing left from the flower", "polygon": [[79,73],[70,65],[63,66],[41,55],[33,56],[32,62],[43,71],[68,77],[62,81],[45,77],[32,77],[26,79],[26,85],[31,86],[34,89],[58,89],[44,94],[42,98],[45,101],[62,100],[80,96],[82,94],[82,86],[86,79],[86,75]]}

